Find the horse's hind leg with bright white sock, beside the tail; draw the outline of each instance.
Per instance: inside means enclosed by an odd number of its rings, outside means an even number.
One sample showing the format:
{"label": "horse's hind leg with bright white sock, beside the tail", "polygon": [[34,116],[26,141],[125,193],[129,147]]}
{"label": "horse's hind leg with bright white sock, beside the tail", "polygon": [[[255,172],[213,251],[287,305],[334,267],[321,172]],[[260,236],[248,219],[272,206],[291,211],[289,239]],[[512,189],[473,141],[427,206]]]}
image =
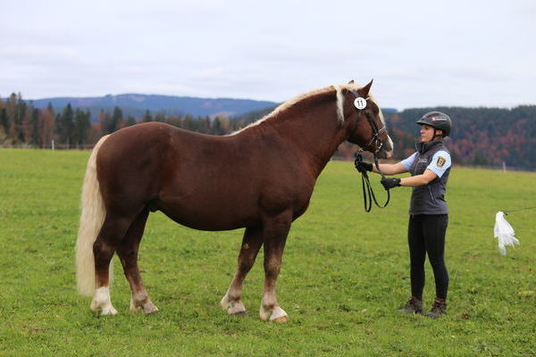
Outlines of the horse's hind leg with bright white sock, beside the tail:
{"label": "horse's hind leg with bright white sock, beside the tail", "polygon": [[131,221],[129,218],[107,214],[103,227],[93,245],[96,290],[90,309],[92,311],[101,311],[101,315],[114,315],[117,313],[110,298],[110,261]]}

